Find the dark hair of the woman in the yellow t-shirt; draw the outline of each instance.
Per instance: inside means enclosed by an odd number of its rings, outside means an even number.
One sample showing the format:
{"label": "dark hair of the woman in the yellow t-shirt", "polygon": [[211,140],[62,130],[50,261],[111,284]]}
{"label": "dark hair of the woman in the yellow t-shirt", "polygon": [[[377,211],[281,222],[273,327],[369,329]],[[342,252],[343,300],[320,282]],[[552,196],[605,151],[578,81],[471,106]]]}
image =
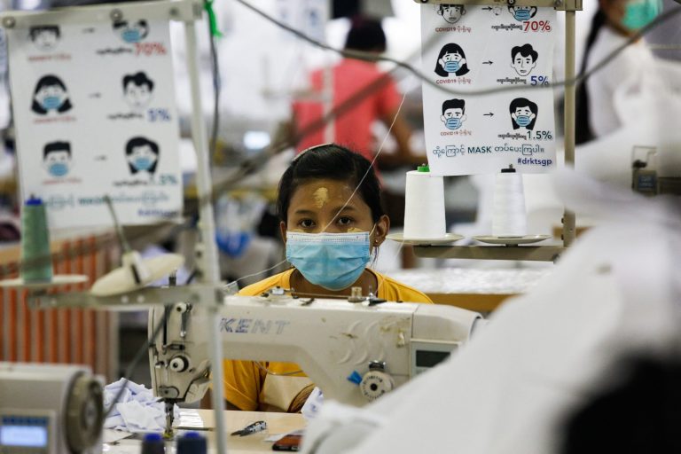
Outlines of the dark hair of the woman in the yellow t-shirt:
{"label": "dark hair of the woman in the yellow t-shirt", "polygon": [[325,144],[304,150],[281,176],[277,215],[282,222],[286,223],[288,207],[298,186],[322,178],[348,182],[352,187],[358,187],[357,193],[372,210],[374,223],[386,214],[380,203],[380,182],[372,163],[344,146]]}

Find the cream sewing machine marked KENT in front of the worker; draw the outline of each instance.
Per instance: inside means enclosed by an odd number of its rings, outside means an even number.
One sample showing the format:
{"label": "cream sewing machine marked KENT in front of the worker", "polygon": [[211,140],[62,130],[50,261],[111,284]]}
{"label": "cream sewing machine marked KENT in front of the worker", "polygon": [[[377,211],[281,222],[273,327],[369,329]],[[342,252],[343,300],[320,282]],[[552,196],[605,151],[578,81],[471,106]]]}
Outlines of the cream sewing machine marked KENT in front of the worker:
{"label": "cream sewing machine marked KENT in front of the worker", "polygon": [[[220,312],[225,358],[299,364],[325,399],[357,406],[440,363],[483,323],[480,314],[450,306],[273,294],[227,297]],[[173,403],[195,402],[206,393],[211,320],[204,305],[180,302],[151,309],[150,333],[164,314],[149,360],[170,429]]]}

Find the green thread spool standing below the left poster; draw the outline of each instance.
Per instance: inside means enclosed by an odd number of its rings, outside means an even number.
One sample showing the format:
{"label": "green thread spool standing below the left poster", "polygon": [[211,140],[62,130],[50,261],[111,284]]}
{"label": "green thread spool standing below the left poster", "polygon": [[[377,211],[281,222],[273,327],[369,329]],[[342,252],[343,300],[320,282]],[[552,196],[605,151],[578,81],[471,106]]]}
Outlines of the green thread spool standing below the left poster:
{"label": "green thread spool standing below the left poster", "polygon": [[50,232],[43,200],[31,197],[21,211],[21,278],[24,282],[52,279]]}

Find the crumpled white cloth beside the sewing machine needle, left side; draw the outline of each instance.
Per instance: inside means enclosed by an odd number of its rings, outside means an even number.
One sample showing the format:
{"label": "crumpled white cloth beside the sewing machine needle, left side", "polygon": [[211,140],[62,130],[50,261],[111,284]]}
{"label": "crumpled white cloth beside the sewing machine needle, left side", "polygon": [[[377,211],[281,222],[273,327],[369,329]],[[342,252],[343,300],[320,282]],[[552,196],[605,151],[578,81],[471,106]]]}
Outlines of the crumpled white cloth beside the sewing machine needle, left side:
{"label": "crumpled white cloth beside the sewing machine needle, left side", "polygon": [[[114,381],[104,387],[104,406],[109,406],[114,402],[114,398],[121,391],[125,380]],[[180,410],[174,406],[173,413],[175,419],[180,417]],[[104,427],[108,429],[125,430],[127,432],[162,432],[166,425],[165,404],[158,402],[153,396],[151,389],[144,385],[137,385],[128,381],[128,385],[123,391],[114,410],[104,422]]]}

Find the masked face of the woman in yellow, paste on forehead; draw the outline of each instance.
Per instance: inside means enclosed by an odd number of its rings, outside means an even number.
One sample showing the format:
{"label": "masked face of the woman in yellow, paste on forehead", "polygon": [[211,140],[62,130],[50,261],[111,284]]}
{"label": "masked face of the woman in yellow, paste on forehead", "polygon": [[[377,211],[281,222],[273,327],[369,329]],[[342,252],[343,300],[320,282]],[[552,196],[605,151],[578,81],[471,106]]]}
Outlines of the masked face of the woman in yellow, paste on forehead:
{"label": "masked face of the woman in yellow, paste on forehead", "polygon": [[353,191],[332,179],[300,184],[280,225],[286,260],[309,284],[333,292],[362,277],[372,247],[383,242],[389,226],[387,216],[374,223],[371,208]]}

